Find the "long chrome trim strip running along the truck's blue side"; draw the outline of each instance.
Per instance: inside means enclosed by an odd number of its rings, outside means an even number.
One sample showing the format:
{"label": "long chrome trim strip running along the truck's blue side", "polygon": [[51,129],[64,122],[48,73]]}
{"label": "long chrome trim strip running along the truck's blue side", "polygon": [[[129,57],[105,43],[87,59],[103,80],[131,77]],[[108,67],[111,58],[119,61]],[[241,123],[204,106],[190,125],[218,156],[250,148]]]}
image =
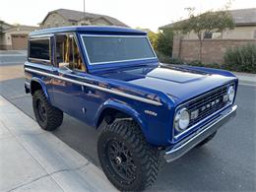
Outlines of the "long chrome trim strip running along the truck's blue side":
{"label": "long chrome trim strip running along the truck's blue side", "polygon": [[[93,88],[93,89],[96,89],[96,90],[99,90],[99,91],[102,91],[102,92],[107,92],[107,93],[110,93],[110,94],[114,94],[114,95],[117,95],[117,96],[125,96],[125,97],[128,97],[128,98],[132,98],[132,99],[139,100],[139,101],[142,101],[142,102],[146,102],[146,103],[149,103],[149,104],[154,104],[154,105],[157,105],[157,106],[162,105],[162,103],[160,103],[159,101],[152,100],[152,99],[149,99],[149,98],[144,98],[144,97],[141,97],[141,96],[133,96],[133,95],[125,94],[125,93],[122,93],[122,92],[113,91],[111,89],[102,88],[100,86],[88,84],[88,83],[85,83],[85,82],[80,82],[80,81],[77,81],[77,80],[72,80],[72,79],[69,79],[69,78],[65,78],[65,77],[61,77],[61,76],[57,76],[57,75],[53,75],[53,74],[48,74],[48,73],[45,73],[45,72],[42,72],[42,71],[37,71],[37,70],[34,70],[34,69],[30,69],[30,68],[25,68],[25,71],[29,71],[29,72],[32,72],[32,73],[37,73],[39,75],[44,75],[44,76],[56,78],[56,79],[59,79],[59,80],[67,81],[67,82],[74,83],[74,84],[81,85],[81,86],[86,86],[86,87]],[[76,76],[76,77],[78,77],[78,76]]]}

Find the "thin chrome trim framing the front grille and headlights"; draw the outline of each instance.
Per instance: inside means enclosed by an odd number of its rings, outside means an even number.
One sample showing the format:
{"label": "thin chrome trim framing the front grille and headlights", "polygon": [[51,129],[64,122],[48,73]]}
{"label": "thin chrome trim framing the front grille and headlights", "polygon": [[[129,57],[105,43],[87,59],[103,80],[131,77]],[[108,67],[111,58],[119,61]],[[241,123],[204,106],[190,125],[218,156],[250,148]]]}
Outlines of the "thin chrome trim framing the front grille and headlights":
{"label": "thin chrome trim framing the front grille and headlights", "polygon": [[[234,85],[234,83],[229,83],[229,84],[223,85],[223,86],[221,86],[220,88],[222,88],[222,87],[224,87],[224,86],[226,86],[226,87],[227,87],[227,86],[231,86],[231,85]],[[211,90],[211,91],[213,91],[213,90]],[[188,102],[191,102],[191,101],[193,101],[193,100],[195,100],[195,99],[198,99],[198,98],[200,98],[200,97],[203,97],[203,96],[208,95],[209,93],[211,93],[211,91],[209,91],[209,92],[203,94],[202,96],[197,96],[197,97],[195,97],[195,98],[193,98],[193,99],[191,99],[191,100],[188,100],[188,101],[186,101],[186,102],[184,102],[184,103],[178,105],[178,106],[175,108],[175,115],[174,115],[174,116],[176,116],[176,113],[177,113],[177,109],[178,109],[178,108],[184,106],[184,105],[187,104]],[[220,111],[224,110],[225,107],[227,107],[227,106],[229,106],[229,105],[231,105],[231,104],[232,104],[231,102],[227,103],[223,108],[221,108],[221,109],[219,109],[218,111],[214,112],[213,114],[207,116],[206,118],[202,119],[201,121],[197,122],[196,124],[192,125],[191,127],[188,127],[186,130],[184,130],[183,132],[180,132],[180,133],[177,134],[177,135],[174,135],[174,129],[173,129],[173,131],[172,131],[172,132],[173,132],[173,138],[174,138],[174,139],[177,139],[177,138],[179,138],[181,135],[186,134],[187,132],[189,132],[190,130],[194,129],[196,126],[198,126],[199,124],[201,124],[201,123],[204,122],[205,120],[210,119],[211,117],[213,117],[214,115],[216,115],[216,114],[219,113]],[[174,122],[174,121],[173,121],[173,122]],[[174,126],[174,123],[173,123],[173,126]]]}

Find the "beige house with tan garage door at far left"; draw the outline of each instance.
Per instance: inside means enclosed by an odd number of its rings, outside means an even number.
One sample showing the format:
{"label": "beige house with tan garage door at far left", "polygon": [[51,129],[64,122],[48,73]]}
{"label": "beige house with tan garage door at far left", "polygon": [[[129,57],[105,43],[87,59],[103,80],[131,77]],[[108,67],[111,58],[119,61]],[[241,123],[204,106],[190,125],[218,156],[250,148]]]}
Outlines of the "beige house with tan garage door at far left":
{"label": "beige house with tan garage door at far left", "polygon": [[0,50],[25,50],[28,47],[28,35],[37,30],[37,27],[5,23],[5,28],[0,33]]}

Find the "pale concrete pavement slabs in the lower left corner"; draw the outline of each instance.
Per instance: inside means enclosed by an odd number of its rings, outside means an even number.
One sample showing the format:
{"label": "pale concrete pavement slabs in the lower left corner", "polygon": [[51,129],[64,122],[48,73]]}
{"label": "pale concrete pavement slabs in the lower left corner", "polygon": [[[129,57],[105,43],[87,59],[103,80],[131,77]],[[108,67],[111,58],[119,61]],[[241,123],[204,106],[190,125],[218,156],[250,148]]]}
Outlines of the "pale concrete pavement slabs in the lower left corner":
{"label": "pale concrete pavement slabs in the lower left corner", "polygon": [[0,96],[0,191],[117,191],[95,164]]}

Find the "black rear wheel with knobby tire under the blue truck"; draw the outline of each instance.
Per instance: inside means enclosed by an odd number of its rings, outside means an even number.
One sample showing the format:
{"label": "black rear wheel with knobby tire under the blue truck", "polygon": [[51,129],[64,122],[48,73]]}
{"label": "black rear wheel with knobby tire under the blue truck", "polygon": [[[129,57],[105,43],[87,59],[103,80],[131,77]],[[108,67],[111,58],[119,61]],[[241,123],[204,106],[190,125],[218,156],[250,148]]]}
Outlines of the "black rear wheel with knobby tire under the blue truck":
{"label": "black rear wheel with knobby tire under the blue truck", "polygon": [[48,102],[42,90],[37,90],[32,95],[32,108],[42,129],[52,131],[62,124],[63,112]]}

